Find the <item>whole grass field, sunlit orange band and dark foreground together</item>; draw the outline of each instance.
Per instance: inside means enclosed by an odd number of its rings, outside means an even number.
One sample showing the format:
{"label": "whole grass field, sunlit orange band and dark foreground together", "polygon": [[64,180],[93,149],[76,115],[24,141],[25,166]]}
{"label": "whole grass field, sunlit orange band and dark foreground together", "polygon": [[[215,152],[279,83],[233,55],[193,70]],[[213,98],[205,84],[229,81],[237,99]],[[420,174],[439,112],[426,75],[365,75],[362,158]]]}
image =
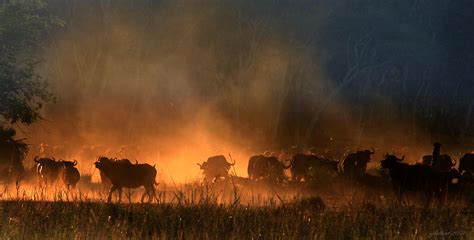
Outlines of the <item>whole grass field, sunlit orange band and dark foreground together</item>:
{"label": "whole grass field, sunlit orange band and dark foreground together", "polygon": [[[222,190],[226,189],[227,192]],[[19,193],[17,193],[17,191]],[[127,191],[124,191],[126,193]],[[1,239],[420,239],[474,237],[474,208],[422,208],[258,195],[199,184],[162,185],[158,203],[105,203],[105,189],[4,188]],[[278,196],[275,196],[277,194]],[[125,195],[125,194],[124,194]]]}

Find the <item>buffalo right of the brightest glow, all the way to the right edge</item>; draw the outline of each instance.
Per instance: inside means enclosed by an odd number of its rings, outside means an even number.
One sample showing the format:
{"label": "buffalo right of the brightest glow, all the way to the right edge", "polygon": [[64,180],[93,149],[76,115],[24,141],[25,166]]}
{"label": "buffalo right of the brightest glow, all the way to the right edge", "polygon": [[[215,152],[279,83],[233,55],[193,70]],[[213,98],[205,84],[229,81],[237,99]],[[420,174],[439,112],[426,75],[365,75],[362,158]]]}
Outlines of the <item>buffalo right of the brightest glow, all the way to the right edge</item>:
{"label": "buffalo right of the brightest glow, all the way to the right edge", "polygon": [[[470,196],[474,185],[474,154],[467,153],[456,161],[446,154],[440,154],[441,144],[435,143],[432,155],[423,156],[422,163],[408,164],[405,157],[386,154],[377,169],[381,176],[368,173],[368,164],[374,149],[358,150],[346,153],[339,160],[313,153],[294,154],[291,158],[279,159],[269,154],[251,156],[248,161],[248,181],[245,183],[266,182],[277,186],[315,183],[332,184],[334,180],[349,181],[366,187],[378,189],[391,187],[397,201],[404,201],[407,193],[424,196],[427,203],[433,200],[443,204],[448,196]],[[219,162],[214,159],[219,158]],[[242,180],[231,176],[224,156],[209,158],[200,164],[204,182],[215,183],[228,179]],[[205,168],[203,168],[205,166]],[[288,169],[288,174],[285,170]],[[387,185],[383,185],[387,183]]]}

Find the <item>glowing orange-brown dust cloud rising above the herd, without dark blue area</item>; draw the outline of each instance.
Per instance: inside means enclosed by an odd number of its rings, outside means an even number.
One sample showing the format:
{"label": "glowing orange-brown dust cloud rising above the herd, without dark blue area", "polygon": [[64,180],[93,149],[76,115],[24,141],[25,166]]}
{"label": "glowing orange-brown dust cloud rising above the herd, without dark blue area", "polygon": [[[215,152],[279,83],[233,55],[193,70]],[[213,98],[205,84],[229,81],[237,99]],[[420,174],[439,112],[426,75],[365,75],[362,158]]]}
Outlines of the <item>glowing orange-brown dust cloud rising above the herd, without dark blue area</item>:
{"label": "glowing orange-brown dust cloud rising above the herd, without dark blue area", "polygon": [[318,58],[324,49],[288,37],[264,13],[232,4],[68,3],[53,4],[66,26],[48,41],[41,72],[57,103],[28,129],[30,156],[44,144],[95,178],[98,155],[127,157],[156,164],[160,180],[188,182],[211,155],[230,154],[246,176],[248,157],[266,150],[381,142],[382,132],[361,130],[339,96],[308,133],[335,88]]}

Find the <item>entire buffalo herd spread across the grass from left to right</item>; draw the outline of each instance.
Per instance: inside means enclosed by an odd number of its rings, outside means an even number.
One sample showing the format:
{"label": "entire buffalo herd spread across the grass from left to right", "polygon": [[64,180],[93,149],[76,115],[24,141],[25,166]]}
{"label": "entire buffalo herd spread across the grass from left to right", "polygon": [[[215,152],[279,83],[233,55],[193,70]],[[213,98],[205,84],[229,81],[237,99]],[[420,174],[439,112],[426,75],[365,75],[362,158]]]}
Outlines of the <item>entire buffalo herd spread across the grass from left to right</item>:
{"label": "entire buffalo herd spread across the grass from left to right", "polygon": [[[346,152],[342,157],[333,159],[311,153],[295,153],[286,157],[276,154],[251,156],[248,161],[248,178],[235,176],[232,171],[235,161],[227,161],[223,155],[208,158],[198,163],[204,176],[203,184],[241,180],[245,183],[265,182],[274,186],[289,186],[304,183],[325,184],[336,179],[355,182],[364,186],[376,186],[386,182],[391,185],[397,200],[403,200],[407,193],[424,195],[427,200],[447,201],[448,196],[472,195],[474,185],[474,154],[466,153],[456,161],[441,154],[441,144],[435,143],[432,155],[422,157],[421,163],[408,164],[405,157],[386,154],[376,169],[378,176],[368,173],[368,164],[375,153],[374,149]],[[49,157],[35,157],[35,171],[43,184],[53,184],[62,179],[68,189],[75,188],[81,179],[76,168],[77,161],[56,160]],[[128,159],[100,156],[94,163],[100,172],[101,183],[110,187],[108,201],[112,194],[118,193],[121,200],[122,188],[144,187],[142,202],[156,199],[155,166],[132,163]],[[244,181],[245,180],[245,181]],[[382,188],[387,186],[382,185]]]}

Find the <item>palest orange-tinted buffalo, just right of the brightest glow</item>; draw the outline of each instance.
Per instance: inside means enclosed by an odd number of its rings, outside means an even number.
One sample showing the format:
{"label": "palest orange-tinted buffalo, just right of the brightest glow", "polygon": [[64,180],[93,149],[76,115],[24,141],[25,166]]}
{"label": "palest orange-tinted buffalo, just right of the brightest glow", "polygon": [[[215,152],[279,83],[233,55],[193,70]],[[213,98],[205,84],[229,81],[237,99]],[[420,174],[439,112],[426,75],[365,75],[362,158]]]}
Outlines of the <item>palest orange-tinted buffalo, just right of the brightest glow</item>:
{"label": "palest orange-tinted buffalo, just right of the brightest glow", "polygon": [[205,182],[215,182],[222,179],[227,179],[229,176],[229,170],[233,163],[227,162],[223,155],[213,156],[207,159],[207,161],[199,164],[199,167],[203,171]]}

